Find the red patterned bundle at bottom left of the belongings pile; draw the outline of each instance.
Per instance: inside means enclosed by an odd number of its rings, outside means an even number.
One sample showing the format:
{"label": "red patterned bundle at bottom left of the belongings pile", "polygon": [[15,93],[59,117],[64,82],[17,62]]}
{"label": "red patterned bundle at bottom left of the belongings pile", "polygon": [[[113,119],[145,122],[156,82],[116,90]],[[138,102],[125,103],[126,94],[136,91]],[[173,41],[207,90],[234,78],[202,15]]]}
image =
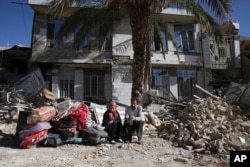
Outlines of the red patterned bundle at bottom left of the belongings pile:
{"label": "red patterned bundle at bottom left of the belongings pile", "polygon": [[21,148],[28,148],[28,146],[30,145],[34,145],[36,143],[38,143],[39,141],[45,139],[47,137],[48,134],[48,130],[44,129],[42,131],[39,131],[37,133],[33,133],[29,136],[26,136],[21,144],[19,145]]}

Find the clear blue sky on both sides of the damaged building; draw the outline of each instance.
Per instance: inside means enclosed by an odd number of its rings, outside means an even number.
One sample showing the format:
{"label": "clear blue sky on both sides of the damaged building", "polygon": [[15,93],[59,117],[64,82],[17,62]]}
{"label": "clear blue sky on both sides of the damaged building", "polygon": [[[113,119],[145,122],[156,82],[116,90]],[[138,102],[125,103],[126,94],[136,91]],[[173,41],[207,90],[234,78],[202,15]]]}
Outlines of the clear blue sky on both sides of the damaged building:
{"label": "clear blue sky on both sides of the damaged building", "polygon": [[[0,0],[0,46],[31,45],[33,10],[28,0]],[[250,37],[250,1],[234,0],[232,19],[240,23],[239,35]]]}

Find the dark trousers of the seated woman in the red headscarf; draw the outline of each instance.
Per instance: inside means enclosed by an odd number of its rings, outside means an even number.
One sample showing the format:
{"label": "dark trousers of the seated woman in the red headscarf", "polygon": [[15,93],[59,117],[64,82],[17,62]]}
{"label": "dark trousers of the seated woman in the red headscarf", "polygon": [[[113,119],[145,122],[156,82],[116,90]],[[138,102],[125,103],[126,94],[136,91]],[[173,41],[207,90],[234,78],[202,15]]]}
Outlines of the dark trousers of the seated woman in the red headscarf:
{"label": "dark trousers of the seated woman in the red headscarf", "polygon": [[105,128],[105,131],[109,134],[110,141],[120,139],[122,134],[122,123],[119,121],[114,121]]}

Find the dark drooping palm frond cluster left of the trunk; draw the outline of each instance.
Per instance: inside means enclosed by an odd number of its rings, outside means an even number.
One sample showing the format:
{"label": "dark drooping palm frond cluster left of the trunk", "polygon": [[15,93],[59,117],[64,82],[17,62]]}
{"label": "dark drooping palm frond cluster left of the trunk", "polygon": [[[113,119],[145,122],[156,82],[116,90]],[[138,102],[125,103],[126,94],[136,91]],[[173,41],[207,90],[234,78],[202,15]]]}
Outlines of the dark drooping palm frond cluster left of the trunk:
{"label": "dark drooping palm frond cluster left of the trunk", "polygon": [[[79,9],[73,15],[66,18],[60,28],[57,38],[62,40],[62,37],[69,35],[72,32],[76,33],[75,47],[79,48],[85,37],[88,35],[98,35],[100,28],[105,36],[112,32],[114,24],[120,20],[120,15],[107,8],[95,9],[84,8]],[[76,31],[77,29],[77,31]]]}

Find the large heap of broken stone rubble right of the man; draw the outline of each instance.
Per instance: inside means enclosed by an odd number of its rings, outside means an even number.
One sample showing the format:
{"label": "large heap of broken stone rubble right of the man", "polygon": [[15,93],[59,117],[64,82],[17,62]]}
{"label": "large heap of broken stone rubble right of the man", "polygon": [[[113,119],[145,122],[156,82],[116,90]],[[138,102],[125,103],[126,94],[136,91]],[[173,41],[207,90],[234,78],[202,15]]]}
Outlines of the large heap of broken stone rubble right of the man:
{"label": "large heap of broken stone rubble right of the man", "polygon": [[169,119],[169,114],[165,112],[165,120],[157,130],[174,146],[200,153],[250,149],[249,118],[241,107],[229,105],[221,98],[195,99],[176,112],[174,119]]}

